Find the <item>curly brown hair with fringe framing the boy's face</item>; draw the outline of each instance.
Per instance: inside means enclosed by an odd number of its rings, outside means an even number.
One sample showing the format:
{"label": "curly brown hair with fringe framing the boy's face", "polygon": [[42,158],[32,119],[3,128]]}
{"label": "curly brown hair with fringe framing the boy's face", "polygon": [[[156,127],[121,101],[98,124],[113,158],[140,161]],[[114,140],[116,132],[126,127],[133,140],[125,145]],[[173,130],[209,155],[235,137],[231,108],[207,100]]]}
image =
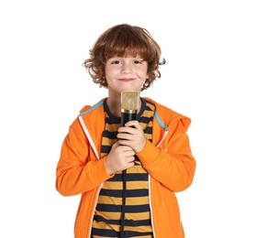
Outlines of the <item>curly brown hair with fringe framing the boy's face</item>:
{"label": "curly brown hair with fringe framing the boy's face", "polygon": [[113,57],[139,56],[148,62],[148,78],[141,91],[149,88],[156,78],[161,78],[159,66],[165,63],[161,58],[161,48],[151,37],[150,32],[141,27],[120,24],[108,28],[89,50],[90,58],[83,67],[100,87],[107,88],[105,75],[106,60]]}

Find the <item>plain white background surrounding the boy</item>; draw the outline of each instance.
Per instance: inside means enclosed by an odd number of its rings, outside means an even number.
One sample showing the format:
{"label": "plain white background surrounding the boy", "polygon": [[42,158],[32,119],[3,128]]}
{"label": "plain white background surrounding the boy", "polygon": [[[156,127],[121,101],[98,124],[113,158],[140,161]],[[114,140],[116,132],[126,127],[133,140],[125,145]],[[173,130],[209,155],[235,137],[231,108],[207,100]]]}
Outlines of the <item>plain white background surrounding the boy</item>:
{"label": "plain white background surrounding the boy", "polygon": [[142,96],[192,119],[186,237],[256,237],[253,2],[1,1],[0,237],[73,237],[80,197],[56,191],[55,169],[72,120],[106,96],[83,60],[120,23],[147,28],[167,60]]}

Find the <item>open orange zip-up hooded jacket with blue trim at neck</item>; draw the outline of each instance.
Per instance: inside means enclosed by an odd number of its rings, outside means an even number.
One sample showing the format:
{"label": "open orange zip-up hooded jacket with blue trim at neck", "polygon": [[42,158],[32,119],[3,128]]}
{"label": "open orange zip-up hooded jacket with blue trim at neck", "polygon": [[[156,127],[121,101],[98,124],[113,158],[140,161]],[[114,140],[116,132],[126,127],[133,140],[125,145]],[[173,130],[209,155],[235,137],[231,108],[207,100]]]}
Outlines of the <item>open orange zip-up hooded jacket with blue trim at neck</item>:
{"label": "open orange zip-up hooded jacket with blue trim at neck", "polygon": [[[137,156],[150,178],[151,223],[155,238],[184,238],[175,192],[194,178],[195,158],[186,134],[190,119],[156,103],[152,143]],[[90,237],[98,193],[106,179],[106,157],[100,159],[105,129],[103,100],[85,106],[73,121],[57,165],[56,189],[63,196],[82,194],[74,225],[75,238]]]}

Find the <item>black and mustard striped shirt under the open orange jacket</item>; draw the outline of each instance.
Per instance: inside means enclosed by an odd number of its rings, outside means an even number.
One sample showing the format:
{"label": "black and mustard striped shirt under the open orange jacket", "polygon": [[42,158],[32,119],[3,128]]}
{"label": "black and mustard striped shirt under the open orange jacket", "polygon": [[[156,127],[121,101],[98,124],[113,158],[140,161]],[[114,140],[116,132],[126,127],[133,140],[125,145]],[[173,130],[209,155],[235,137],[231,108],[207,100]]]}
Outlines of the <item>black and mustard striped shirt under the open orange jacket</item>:
{"label": "black and mustard striped shirt under the open orange jacket", "polygon": [[[144,134],[151,141],[152,119],[155,106],[141,99],[141,108],[137,120]],[[110,113],[104,102],[106,126],[103,132],[101,157],[106,157],[111,146],[117,142],[117,129],[120,117]],[[135,157],[135,166],[126,171],[126,189],[124,191],[123,172],[118,172],[104,182],[100,190],[92,227],[92,237],[120,237],[121,213],[125,193],[125,237],[152,238],[149,201],[149,174]]]}

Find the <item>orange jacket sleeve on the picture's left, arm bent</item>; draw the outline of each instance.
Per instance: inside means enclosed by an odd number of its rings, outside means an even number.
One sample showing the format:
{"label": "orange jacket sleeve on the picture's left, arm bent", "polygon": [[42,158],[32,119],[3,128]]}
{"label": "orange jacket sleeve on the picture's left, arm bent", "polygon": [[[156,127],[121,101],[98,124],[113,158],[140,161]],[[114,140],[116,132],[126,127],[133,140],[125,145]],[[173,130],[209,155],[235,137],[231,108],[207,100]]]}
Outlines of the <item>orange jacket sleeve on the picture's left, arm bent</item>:
{"label": "orange jacket sleeve on the picture's left, arm bent", "polygon": [[56,189],[63,196],[76,195],[101,186],[109,178],[106,158],[96,159],[79,121],[75,120],[61,146]]}

